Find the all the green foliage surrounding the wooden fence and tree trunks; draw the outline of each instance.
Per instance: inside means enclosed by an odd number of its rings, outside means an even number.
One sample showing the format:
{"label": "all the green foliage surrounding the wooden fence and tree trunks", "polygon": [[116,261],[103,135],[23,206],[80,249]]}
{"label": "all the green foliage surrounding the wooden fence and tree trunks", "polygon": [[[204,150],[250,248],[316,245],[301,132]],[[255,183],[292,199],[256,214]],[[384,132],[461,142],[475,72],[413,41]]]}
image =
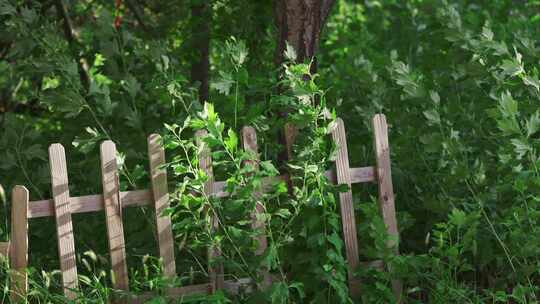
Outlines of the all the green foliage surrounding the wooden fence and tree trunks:
{"label": "all the green foliage surrounding the wooden fence and tree trunks", "polygon": [[[73,196],[100,193],[105,139],[120,152],[122,189],[146,188],[146,137],[161,133],[172,162],[174,283],[206,281],[205,248],[216,243],[228,273],[260,279],[256,270],[266,267],[278,278],[267,292],[193,301],[348,303],[334,198],[343,189],[322,177],[335,148],[327,133],[342,117],[352,166],[372,165],[371,117],[384,113],[402,255],[386,248],[376,188],[353,187],[361,259],[392,265],[390,273],[358,269],[362,298],[355,302],[395,301],[396,278],[406,303],[538,302],[538,1],[338,0],[321,34],[316,74],[309,62],[276,65],[271,1],[215,0],[201,16],[190,7],[202,1],[74,1],[72,39],[56,3],[0,0],[0,182],[8,200],[16,184],[31,199],[50,197],[47,147],[54,142],[66,147]],[[122,16],[118,28],[115,16]],[[210,90],[199,101],[190,69],[198,58],[193,28],[202,24],[211,33]],[[286,58],[294,61],[294,51]],[[278,115],[284,109],[287,117]],[[285,122],[301,130],[287,164],[277,144]],[[244,125],[258,132],[259,172],[241,165],[253,159],[239,148]],[[217,178],[234,193],[227,200],[201,195],[206,176],[192,138],[200,128],[210,131],[204,141]],[[292,195],[280,184],[254,197],[276,168],[294,177]],[[255,199],[267,203],[262,258],[247,241],[256,234],[247,221]],[[2,241],[9,208],[4,202],[0,211]],[[208,209],[223,221],[215,235]],[[162,291],[171,282],[146,256],[157,254],[153,215],[144,208],[124,215],[132,289]],[[99,303],[110,292],[104,218],[73,220],[79,301]],[[65,301],[50,272],[58,269],[54,235],[52,218],[31,221],[31,290],[44,303]]]}

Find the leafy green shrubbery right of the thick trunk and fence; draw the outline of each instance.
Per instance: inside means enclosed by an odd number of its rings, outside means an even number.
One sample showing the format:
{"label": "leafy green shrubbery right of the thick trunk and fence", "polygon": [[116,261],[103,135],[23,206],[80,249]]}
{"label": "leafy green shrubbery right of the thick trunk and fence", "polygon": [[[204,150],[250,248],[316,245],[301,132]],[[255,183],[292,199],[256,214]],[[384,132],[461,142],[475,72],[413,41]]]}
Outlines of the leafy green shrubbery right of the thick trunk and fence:
{"label": "leafy green shrubbery right of the thick trunk and fence", "polygon": [[[394,269],[411,299],[535,303],[537,4],[372,4],[338,4],[319,72],[353,138],[363,141],[371,113],[391,123],[397,206],[414,219],[400,249],[421,254]],[[378,291],[388,279],[371,281]]]}

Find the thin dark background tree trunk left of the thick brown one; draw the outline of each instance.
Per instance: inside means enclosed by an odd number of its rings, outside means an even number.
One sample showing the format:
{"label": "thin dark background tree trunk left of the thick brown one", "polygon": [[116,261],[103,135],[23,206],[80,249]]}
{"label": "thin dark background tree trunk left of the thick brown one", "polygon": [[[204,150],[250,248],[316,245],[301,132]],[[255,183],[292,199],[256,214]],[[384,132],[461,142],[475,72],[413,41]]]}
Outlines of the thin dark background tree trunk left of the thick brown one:
{"label": "thin dark background tree trunk left of the thick brown one", "polygon": [[199,83],[199,101],[208,100],[210,70],[210,24],[212,11],[209,1],[199,1],[191,6],[191,82]]}

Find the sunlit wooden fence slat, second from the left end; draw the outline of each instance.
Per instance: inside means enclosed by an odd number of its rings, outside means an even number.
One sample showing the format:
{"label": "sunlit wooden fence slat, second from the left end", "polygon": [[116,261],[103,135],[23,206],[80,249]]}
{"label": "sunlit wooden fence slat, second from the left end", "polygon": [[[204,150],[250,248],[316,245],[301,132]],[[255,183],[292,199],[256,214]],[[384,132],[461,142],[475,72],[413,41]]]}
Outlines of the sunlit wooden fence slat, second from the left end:
{"label": "sunlit wooden fence slat, second from the left end", "polygon": [[66,154],[61,144],[49,146],[49,167],[51,170],[51,187],[55,207],[56,237],[58,240],[58,256],[64,295],[68,299],[77,296],[77,264],[75,260],[75,240],[73,223],[69,206],[69,182],[67,174]]}

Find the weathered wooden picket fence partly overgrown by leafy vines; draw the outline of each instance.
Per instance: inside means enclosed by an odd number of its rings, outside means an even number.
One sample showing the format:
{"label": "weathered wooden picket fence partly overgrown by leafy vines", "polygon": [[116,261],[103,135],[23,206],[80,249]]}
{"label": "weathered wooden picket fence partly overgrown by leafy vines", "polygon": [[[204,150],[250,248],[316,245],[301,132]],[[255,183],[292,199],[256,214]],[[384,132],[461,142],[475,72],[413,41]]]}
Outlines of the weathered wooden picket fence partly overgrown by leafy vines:
{"label": "weathered wooden picket fence partly overgrown by leafy vines", "polygon": [[[290,131],[290,130],[289,130]],[[205,135],[206,131],[196,133],[198,139]],[[290,153],[294,132],[287,132],[287,149]],[[338,146],[335,170],[326,171],[326,176],[333,183],[356,184],[376,182],[379,188],[379,203],[384,223],[390,235],[398,237],[398,229],[394,208],[394,192],[392,189],[390,156],[386,118],[382,114],[373,117],[374,152],[376,165],[370,167],[350,168],[345,127],[341,119],[337,120],[337,126],[332,131],[332,138]],[[257,136],[251,127],[244,127],[241,132],[242,145],[245,150],[257,153]],[[204,145],[198,140],[199,145]],[[64,294],[73,299],[77,290],[77,266],[75,263],[75,245],[73,237],[73,224],[71,215],[74,213],[104,211],[107,224],[107,238],[112,271],[115,277],[113,287],[118,290],[129,291],[128,272],[126,263],[124,228],[122,223],[122,209],[132,206],[150,205],[155,209],[157,225],[157,241],[159,255],[162,259],[163,273],[166,277],[176,276],[174,258],[174,241],[171,229],[171,219],[163,215],[163,210],[169,207],[169,195],[167,190],[167,173],[163,169],[165,153],[161,145],[161,137],[152,134],[148,137],[148,157],[150,162],[151,189],[120,191],[119,175],[116,162],[116,147],[112,141],[105,141],[100,147],[101,153],[101,178],[103,185],[102,194],[72,197],[69,194],[69,181],[64,148],[60,144],[49,147],[49,163],[51,172],[52,199],[30,201],[28,190],[24,186],[15,186],[12,191],[12,216],[11,216],[11,242],[0,243],[0,254],[7,255],[9,252],[11,273],[11,298],[15,302],[24,301],[28,292],[28,278],[26,267],[28,265],[28,220],[39,217],[54,217],[58,239],[58,253],[60,259],[60,271]],[[212,173],[212,159],[210,151],[203,146],[200,149],[200,166],[208,175],[208,181],[204,185],[204,191],[211,196],[225,197],[225,182],[215,181]],[[253,164],[256,165],[256,164]],[[288,180],[287,175],[267,178],[264,184],[272,184],[275,179]],[[348,263],[348,282],[352,296],[359,294],[358,279],[353,277],[353,271],[361,266],[358,253],[358,241],[356,233],[356,221],[353,208],[352,191],[339,194],[340,212],[343,225],[343,238],[345,242],[346,258]],[[253,212],[262,212],[263,206],[256,204]],[[264,229],[264,222],[258,222],[256,216],[252,217],[253,229]],[[217,219],[213,219],[213,228],[217,229]],[[258,237],[258,249],[256,254],[262,254],[266,249],[264,234]],[[393,246],[394,244],[389,244]],[[397,248],[397,246],[396,246]],[[396,252],[397,253],[397,252]],[[213,259],[220,255],[219,248],[209,248],[208,258]],[[381,261],[363,263],[362,266],[375,266],[384,268]],[[271,283],[271,275],[266,270],[263,286]],[[190,286],[177,287],[167,290],[169,297],[180,297],[194,294],[211,294],[218,289],[225,289],[231,293],[237,293],[239,288],[251,284],[250,279],[224,280],[223,266],[209,263],[209,282]],[[393,290],[398,299],[401,296],[400,282],[393,282]],[[130,302],[141,302],[151,295],[142,295],[132,298]]]}

